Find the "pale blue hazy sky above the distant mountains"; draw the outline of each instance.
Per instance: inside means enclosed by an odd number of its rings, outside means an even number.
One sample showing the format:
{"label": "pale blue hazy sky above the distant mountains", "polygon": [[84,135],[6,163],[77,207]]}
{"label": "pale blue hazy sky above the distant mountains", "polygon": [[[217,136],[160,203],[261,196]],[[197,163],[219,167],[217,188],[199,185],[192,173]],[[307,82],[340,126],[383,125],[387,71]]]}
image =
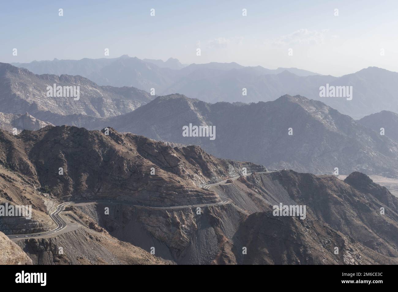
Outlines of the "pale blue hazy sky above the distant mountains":
{"label": "pale blue hazy sky above the distant mountains", "polygon": [[0,62],[103,58],[109,48],[109,58],[237,62],[335,76],[369,66],[398,72],[397,15],[397,0],[7,1],[0,4]]}

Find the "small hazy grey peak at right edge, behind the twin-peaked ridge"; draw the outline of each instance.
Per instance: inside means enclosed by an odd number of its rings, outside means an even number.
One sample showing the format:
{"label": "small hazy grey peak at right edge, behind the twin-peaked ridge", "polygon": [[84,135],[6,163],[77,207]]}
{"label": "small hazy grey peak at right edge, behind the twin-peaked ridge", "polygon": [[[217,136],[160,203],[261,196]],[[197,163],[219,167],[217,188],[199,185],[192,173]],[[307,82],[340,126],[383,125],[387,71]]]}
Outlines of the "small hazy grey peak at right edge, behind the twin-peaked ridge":
{"label": "small hazy grey peak at right edge, behind the twin-peaked ridge", "polygon": [[365,116],[358,122],[379,133],[382,131],[381,128],[384,128],[384,135],[398,141],[398,114],[395,112],[382,110]]}

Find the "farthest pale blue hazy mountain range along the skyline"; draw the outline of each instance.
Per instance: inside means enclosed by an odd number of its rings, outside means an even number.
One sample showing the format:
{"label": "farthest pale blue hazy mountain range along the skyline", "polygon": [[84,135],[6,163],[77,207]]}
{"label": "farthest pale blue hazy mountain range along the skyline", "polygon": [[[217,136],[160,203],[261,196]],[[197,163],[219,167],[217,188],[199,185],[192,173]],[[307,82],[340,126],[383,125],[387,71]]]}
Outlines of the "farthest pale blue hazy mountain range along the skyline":
{"label": "farthest pale blue hazy mountain range along the skyline", "polygon": [[[394,87],[398,73],[377,67],[334,77],[297,68],[269,70],[261,66],[216,62],[184,66],[177,59],[163,62],[127,55],[111,59],[55,59],[13,64],[38,74],[82,75],[100,85],[133,86],[144,91],[154,88],[156,95],[180,93],[212,103],[272,101],[290,94],[320,100],[355,119],[381,110],[398,112]],[[353,99],[320,97],[319,88],[326,84],[352,86]],[[243,88],[247,89],[247,95],[242,95]]]}

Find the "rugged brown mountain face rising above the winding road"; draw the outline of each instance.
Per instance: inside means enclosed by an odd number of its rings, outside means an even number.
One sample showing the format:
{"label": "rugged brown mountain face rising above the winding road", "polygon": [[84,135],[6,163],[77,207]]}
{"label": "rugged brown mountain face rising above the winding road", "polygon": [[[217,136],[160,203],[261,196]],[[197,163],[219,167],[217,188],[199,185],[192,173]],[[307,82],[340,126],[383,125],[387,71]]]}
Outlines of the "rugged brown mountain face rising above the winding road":
{"label": "rugged brown mountain face rising above the winding road", "polygon": [[172,148],[112,128],[109,135],[69,126],[16,136],[0,130],[0,145],[0,163],[64,198],[111,196],[164,206],[218,202],[215,193],[198,186],[236,176],[244,166],[265,169],[217,159],[197,146]]}

